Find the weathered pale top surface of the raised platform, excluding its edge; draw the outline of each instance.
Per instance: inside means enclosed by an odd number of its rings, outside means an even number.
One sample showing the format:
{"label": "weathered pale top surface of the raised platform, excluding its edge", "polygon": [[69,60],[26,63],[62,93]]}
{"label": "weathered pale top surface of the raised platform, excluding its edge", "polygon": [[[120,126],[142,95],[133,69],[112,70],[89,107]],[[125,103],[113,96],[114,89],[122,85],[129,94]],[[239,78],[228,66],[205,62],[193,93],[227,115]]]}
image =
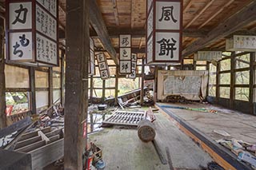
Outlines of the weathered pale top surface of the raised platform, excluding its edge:
{"label": "weathered pale top surface of the raised platform, excluding its edge", "polygon": [[252,144],[256,144],[256,117],[239,113],[230,109],[214,105],[202,105],[197,103],[190,105],[182,104],[165,104],[158,105],[182,106],[189,108],[206,108],[214,109],[218,113],[197,112],[186,109],[168,109],[180,119],[186,121],[187,124],[198,129],[200,132],[210,136],[213,140],[223,139],[224,136],[218,135],[214,130],[224,130],[230,134],[229,138],[243,140]]}

